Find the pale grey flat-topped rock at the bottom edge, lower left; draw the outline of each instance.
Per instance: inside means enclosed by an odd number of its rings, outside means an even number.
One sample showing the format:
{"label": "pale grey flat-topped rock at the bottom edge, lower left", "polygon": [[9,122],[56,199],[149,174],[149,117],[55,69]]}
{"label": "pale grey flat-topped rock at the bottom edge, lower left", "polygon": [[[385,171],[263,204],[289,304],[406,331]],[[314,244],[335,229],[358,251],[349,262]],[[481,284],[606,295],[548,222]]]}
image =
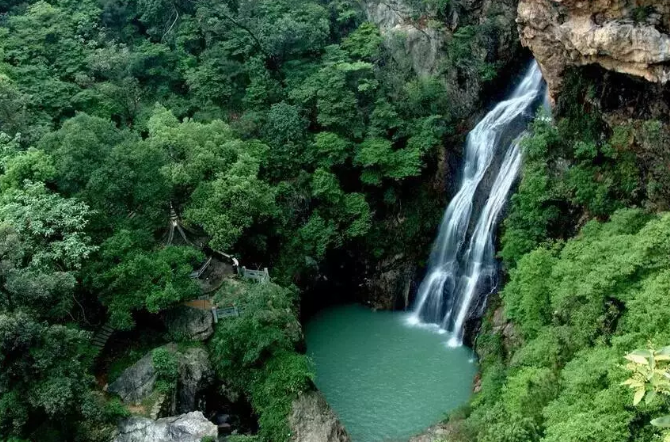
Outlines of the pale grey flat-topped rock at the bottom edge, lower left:
{"label": "pale grey flat-topped rock at the bottom edge, lower left", "polygon": [[217,436],[217,428],[201,412],[151,420],[131,417],[123,420],[114,442],[200,442]]}

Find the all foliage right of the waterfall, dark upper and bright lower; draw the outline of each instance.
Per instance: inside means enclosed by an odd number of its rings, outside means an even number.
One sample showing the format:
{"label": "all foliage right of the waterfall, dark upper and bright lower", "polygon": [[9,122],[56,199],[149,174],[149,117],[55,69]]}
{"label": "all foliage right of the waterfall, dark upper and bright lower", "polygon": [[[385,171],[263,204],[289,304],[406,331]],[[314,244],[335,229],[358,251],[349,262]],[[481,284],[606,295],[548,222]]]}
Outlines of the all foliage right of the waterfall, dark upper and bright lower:
{"label": "all foliage right of the waterfall, dark upper and bright lower", "polygon": [[670,215],[631,208],[654,206],[667,170],[645,175],[634,150],[650,123],[608,132],[590,90],[572,77],[558,119],[537,118],[523,143],[501,240],[509,281],[477,341],[481,392],[451,418],[456,441],[661,438],[649,422],[667,397],[637,404],[642,387],[635,407],[621,383],[625,354],[670,342]]}

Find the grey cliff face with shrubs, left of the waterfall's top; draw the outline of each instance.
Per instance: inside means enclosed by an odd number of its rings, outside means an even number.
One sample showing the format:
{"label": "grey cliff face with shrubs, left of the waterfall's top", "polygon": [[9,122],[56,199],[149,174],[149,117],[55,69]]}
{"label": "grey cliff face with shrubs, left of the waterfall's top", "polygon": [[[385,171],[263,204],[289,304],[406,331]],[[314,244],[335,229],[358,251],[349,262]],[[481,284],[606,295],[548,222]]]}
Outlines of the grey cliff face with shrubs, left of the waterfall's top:
{"label": "grey cliff face with shrubs, left of the waterfall's top", "polygon": [[[477,111],[487,75],[482,66],[505,71],[519,55],[515,26],[518,0],[454,0],[445,10],[417,6],[413,0],[364,0],[368,20],[375,23],[387,49],[400,65],[418,76],[435,75],[447,85],[459,118]],[[474,35],[463,35],[466,29]],[[465,54],[457,40],[467,39]],[[462,52],[462,51],[461,51]],[[467,60],[459,60],[465,56]]]}

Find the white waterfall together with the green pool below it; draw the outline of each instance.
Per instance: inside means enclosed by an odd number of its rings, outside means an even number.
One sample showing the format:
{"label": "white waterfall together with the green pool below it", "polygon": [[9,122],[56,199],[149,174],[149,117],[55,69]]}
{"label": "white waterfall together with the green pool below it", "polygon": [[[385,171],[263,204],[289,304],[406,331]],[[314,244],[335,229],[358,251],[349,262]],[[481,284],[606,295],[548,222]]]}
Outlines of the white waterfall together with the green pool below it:
{"label": "white waterfall together with the green pool below it", "polygon": [[533,63],[511,96],[468,135],[460,187],[411,313],[341,306],[308,322],[316,385],[354,442],[407,441],[470,396],[476,364],[461,346],[463,327],[495,288],[495,226],[543,90]]}

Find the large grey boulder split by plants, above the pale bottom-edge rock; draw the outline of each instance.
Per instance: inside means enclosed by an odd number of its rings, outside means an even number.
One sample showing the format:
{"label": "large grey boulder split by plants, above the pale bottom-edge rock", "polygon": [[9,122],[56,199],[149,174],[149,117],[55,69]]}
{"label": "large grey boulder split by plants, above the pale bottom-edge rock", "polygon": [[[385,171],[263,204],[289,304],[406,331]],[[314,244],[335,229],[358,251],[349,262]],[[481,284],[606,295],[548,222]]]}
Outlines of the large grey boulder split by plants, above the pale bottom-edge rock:
{"label": "large grey boulder split by plants, above the pale bottom-edge rock", "polygon": [[[174,400],[162,404],[162,410],[186,413],[198,408],[197,399],[214,381],[214,370],[207,351],[201,347],[191,347],[177,351],[177,346],[165,346],[178,358],[179,379]],[[139,405],[154,395],[158,374],[153,364],[153,352],[128,367],[112,382],[107,391],[118,394],[127,405]],[[150,410],[145,410],[149,413]]]}

